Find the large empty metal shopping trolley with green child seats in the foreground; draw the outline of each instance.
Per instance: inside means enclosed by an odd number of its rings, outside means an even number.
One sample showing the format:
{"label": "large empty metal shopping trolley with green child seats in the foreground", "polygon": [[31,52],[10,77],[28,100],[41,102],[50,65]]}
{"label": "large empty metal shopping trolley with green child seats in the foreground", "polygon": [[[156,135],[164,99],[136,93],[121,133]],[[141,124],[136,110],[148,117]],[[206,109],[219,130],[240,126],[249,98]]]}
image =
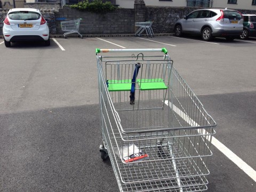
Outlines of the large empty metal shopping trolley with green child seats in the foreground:
{"label": "large empty metal shopping trolley with green child seats in the foreground", "polygon": [[217,124],[167,50],[96,49],[96,55],[99,149],[110,158],[119,190],[207,190]]}

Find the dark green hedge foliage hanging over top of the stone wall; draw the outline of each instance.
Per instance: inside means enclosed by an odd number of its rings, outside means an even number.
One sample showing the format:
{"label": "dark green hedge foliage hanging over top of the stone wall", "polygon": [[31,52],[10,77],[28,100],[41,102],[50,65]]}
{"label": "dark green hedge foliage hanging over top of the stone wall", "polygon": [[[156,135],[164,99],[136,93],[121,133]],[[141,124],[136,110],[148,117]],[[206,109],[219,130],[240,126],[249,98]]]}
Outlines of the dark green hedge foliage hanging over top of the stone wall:
{"label": "dark green hedge foliage hanging over top of the stone wall", "polygon": [[82,11],[90,11],[94,13],[107,13],[117,9],[116,6],[112,5],[110,2],[103,3],[101,0],[93,0],[89,3],[88,0],[79,2],[75,5],[69,5],[71,8],[75,8]]}

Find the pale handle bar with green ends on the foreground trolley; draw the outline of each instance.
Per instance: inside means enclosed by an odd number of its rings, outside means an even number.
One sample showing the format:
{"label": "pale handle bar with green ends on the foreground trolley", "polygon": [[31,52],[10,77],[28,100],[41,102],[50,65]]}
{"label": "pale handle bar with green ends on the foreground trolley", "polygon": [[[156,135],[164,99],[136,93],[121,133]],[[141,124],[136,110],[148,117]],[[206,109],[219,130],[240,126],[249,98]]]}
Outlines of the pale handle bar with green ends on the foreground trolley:
{"label": "pale handle bar with green ends on the foreground trolley", "polygon": [[106,52],[164,52],[164,54],[168,53],[165,48],[161,49],[96,49],[96,54],[98,53],[106,53]]}

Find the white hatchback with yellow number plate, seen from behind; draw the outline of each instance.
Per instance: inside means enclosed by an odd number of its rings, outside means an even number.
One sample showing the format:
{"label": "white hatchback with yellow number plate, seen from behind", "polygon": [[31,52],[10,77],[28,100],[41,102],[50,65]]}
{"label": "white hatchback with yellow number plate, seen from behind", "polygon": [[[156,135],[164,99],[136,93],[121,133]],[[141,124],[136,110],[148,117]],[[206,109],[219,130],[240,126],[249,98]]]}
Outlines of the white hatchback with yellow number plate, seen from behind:
{"label": "white hatchback with yellow number plate, seen from behind", "polygon": [[4,19],[3,35],[6,47],[18,41],[44,41],[50,45],[49,27],[38,9],[11,9]]}

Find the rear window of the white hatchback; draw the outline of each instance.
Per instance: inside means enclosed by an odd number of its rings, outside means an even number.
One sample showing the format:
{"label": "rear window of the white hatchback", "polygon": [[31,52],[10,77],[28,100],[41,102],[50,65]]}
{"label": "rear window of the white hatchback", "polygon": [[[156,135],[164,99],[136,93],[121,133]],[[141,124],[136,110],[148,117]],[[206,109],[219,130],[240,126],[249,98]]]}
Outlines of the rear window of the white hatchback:
{"label": "rear window of the white hatchback", "polygon": [[11,12],[8,14],[9,19],[12,20],[37,20],[41,17],[39,13],[30,11]]}

